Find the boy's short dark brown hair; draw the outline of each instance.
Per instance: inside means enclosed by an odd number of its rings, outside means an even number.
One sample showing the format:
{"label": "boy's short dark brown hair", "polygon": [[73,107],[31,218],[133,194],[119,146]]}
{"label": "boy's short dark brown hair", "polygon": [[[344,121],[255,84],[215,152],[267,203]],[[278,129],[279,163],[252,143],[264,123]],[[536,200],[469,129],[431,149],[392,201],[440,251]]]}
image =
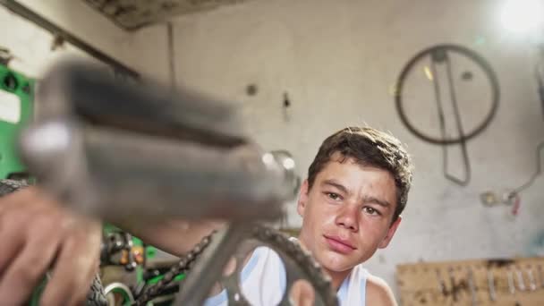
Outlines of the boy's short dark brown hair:
{"label": "boy's short dark brown hair", "polygon": [[392,222],[395,222],[406,206],[412,185],[412,160],[404,145],[392,135],[370,127],[344,128],[327,137],[319,147],[308,169],[309,190],[316,176],[336,152],[342,156],[340,162],[352,157],[363,166],[374,166],[393,175],[397,201]]}

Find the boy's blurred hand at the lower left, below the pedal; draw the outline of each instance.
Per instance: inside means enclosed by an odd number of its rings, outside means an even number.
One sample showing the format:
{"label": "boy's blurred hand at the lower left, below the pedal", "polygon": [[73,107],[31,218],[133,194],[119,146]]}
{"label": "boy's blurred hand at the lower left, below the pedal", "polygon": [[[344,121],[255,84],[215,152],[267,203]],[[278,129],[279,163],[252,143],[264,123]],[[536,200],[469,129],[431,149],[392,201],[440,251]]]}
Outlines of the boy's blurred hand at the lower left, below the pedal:
{"label": "boy's blurred hand at the lower left, below the pedal", "polygon": [[83,302],[98,271],[101,233],[98,221],[73,214],[36,187],[0,198],[0,301],[28,301],[49,270],[41,305]]}

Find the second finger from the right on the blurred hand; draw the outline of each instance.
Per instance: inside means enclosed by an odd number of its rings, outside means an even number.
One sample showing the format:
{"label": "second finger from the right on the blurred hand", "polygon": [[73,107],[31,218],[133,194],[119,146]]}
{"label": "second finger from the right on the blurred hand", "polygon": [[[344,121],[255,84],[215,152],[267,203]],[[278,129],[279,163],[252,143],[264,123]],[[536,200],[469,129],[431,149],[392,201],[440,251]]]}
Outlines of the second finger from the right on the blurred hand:
{"label": "second finger from the right on the blurred hand", "polygon": [[59,239],[51,234],[53,226],[41,226],[41,233],[34,233],[13,260],[0,282],[0,300],[6,305],[21,305],[28,300],[33,288],[45,275],[53,262]]}

